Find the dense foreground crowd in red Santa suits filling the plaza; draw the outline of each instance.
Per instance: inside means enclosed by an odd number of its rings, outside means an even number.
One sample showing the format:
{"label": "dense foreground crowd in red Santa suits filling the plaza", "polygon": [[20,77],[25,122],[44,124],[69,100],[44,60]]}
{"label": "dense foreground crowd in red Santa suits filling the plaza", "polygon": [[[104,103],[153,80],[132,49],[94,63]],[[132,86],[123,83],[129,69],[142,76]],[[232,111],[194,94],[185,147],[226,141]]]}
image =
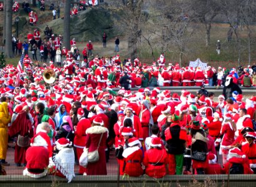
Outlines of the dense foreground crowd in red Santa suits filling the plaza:
{"label": "dense foreground crowd in red Santa suits filling the plaza", "polygon": [[[8,165],[9,135],[31,138],[30,145],[16,143],[14,161],[26,166],[23,174],[33,178],[48,175],[49,166],[50,174],[71,181],[74,161],[97,148],[100,160],[80,165],[81,175],[107,175],[113,148],[120,175],[255,172],[256,97],[243,100],[241,90],[233,90],[232,95],[218,95],[215,102],[214,93],[203,87],[197,95],[160,87],[115,92],[108,86],[103,91],[104,82],[94,89],[92,75],[73,63],[64,70],[50,67],[57,75],[50,87],[43,82],[44,67],[24,70],[16,87],[16,68],[8,65],[1,72],[1,165]],[[101,70],[99,66],[95,74]],[[128,69],[120,77],[127,74]],[[231,72],[225,90],[234,82]]]}

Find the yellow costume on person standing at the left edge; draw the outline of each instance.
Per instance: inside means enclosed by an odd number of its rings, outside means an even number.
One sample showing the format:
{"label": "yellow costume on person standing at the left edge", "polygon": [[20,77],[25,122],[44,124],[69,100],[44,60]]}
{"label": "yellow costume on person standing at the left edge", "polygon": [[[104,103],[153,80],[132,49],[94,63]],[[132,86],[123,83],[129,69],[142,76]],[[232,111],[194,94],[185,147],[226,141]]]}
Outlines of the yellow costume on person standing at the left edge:
{"label": "yellow costume on person standing at the left edge", "polygon": [[6,159],[8,148],[8,123],[11,122],[11,116],[8,112],[8,104],[0,104],[0,160]]}

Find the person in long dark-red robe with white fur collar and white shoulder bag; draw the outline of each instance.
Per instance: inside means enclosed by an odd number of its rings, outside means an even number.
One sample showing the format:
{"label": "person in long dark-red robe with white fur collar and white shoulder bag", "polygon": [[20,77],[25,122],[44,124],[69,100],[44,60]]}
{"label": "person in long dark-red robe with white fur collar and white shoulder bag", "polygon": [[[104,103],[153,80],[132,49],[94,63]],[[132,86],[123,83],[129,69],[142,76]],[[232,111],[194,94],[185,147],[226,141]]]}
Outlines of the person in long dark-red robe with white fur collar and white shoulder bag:
{"label": "person in long dark-red robe with white fur collar and white shoulder bag", "polygon": [[86,130],[86,143],[84,151],[88,153],[88,165],[84,175],[106,175],[106,138],[108,129],[104,127],[101,117],[96,117]]}

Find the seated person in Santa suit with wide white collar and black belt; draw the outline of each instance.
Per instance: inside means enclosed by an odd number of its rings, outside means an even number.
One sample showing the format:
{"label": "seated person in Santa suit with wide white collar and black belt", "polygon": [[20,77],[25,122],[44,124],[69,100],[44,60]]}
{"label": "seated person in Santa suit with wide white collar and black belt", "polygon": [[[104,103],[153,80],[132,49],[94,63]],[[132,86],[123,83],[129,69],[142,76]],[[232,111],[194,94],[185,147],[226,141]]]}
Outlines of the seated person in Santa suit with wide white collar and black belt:
{"label": "seated person in Santa suit with wide white collar and black belt", "polygon": [[141,176],[143,175],[143,170],[141,168],[142,151],[140,147],[134,146],[136,144],[140,145],[140,141],[137,138],[130,138],[128,142],[130,147],[123,151],[123,157],[125,160],[123,172],[129,176]]}

